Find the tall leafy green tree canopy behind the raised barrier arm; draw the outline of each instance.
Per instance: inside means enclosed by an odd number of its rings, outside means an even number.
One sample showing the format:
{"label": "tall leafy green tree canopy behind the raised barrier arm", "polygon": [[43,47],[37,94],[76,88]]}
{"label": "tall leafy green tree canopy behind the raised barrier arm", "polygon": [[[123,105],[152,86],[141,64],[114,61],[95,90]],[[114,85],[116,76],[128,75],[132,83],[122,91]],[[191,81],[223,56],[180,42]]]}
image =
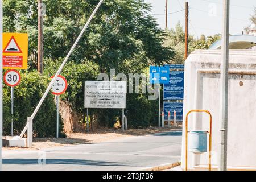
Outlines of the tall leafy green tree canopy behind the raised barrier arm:
{"label": "tall leafy green tree canopy behind the raised barrier arm", "polygon": [[[67,55],[96,0],[44,0],[44,57],[56,60]],[[164,32],[148,14],[151,6],[143,0],[106,0],[97,12],[71,60],[92,60],[101,71],[136,65],[170,63],[174,51],[164,47]],[[4,0],[5,31],[28,32],[29,63],[36,68],[38,44],[36,0]]]}

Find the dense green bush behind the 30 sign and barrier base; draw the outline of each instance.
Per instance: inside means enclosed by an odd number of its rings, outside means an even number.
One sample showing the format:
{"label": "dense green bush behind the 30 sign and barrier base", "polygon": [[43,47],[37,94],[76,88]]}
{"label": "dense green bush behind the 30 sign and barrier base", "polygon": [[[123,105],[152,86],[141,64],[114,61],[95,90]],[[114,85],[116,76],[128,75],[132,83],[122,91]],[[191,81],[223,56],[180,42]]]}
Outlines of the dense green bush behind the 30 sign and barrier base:
{"label": "dense green bush behind the 30 sign and barrier base", "polygon": [[[19,135],[35,110],[40,98],[43,96],[50,79],[40,76],[38,72],[24,72],[20,74],[22,81],[14,88],[14,135]],[[36,114],[33,121],[35,137],[56,136],[56,107],[54,96],[49,93]],[[59,118],[59,134],[63,133],[63,122]],[[10,86],[3,88],[3,134],[10,135],[11,130],[11,102]]]}

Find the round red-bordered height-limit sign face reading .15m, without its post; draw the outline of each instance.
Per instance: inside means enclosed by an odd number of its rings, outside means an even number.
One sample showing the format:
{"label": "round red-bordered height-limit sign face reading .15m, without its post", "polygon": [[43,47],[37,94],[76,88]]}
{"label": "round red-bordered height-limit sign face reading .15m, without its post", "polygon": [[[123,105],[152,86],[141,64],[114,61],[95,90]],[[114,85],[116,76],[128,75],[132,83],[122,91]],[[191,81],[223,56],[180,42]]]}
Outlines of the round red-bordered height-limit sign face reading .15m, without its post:
{"label": "round red-bordered height-limit sign face reading .15m, without its post", "polygon": [[[52,76],[51,78],[53,78],[54,76]],[[67,80],[59,75],[57,76],[55,82],[53,82],[52,84],[52,94],[59,96],[61,94],[63,94],[68,88],[68,82]]]}

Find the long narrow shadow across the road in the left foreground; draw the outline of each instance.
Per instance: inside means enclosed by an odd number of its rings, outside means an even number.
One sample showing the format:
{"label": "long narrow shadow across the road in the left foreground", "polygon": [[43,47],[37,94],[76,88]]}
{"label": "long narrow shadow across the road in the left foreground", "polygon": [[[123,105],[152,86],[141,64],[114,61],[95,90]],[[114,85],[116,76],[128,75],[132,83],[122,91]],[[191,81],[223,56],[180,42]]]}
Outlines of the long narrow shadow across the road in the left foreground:
{"label": "long narrow shadow across the road in the left foreground", "polygon": [[[3,159],[3,164],[31,164],[36,165],[39,159]],[[97,160],[82,159],[46,159],[46,164],[64,164],[64,165],[86,165],[86,166],[129,166],[114,162],[105,162]]]}

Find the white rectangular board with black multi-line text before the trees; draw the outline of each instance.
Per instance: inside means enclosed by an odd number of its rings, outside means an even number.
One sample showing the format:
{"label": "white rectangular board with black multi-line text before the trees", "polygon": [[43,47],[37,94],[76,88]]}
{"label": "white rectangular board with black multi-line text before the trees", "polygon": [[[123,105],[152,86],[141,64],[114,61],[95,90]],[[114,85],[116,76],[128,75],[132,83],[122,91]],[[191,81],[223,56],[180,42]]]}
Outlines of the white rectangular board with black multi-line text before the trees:
{"label": "white rectangular board with black multi-line text before the trees", "polygon": [[126,81],[85,81],[85,108],[126,108]]}

